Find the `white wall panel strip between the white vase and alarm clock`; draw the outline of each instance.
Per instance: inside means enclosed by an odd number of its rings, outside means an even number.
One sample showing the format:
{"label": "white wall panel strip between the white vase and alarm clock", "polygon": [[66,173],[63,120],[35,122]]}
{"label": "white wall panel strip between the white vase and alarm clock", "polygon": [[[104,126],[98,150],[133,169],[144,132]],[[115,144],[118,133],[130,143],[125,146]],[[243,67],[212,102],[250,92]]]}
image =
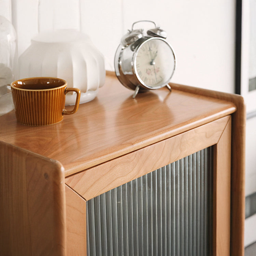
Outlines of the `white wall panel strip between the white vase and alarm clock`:
{"label": "white wall panel strip between the white vase and alarm clock", "polygon": [[81,0],[81,31],[103,53],[108,70],[113,70],[115,51],[123,34],[123,19],[120,0]]}

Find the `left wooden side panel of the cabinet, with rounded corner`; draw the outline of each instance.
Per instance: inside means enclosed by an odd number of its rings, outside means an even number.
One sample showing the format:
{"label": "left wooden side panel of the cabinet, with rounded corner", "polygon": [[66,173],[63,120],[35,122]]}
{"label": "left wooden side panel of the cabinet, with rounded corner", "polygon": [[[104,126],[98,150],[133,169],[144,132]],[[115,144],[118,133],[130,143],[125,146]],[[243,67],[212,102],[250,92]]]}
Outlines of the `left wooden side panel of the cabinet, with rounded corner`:
{"label": "left wooden side panel of the cabinet, with rounded corner", "polygon": [[0,142],[0,255],[65,255],[64,170]]}

